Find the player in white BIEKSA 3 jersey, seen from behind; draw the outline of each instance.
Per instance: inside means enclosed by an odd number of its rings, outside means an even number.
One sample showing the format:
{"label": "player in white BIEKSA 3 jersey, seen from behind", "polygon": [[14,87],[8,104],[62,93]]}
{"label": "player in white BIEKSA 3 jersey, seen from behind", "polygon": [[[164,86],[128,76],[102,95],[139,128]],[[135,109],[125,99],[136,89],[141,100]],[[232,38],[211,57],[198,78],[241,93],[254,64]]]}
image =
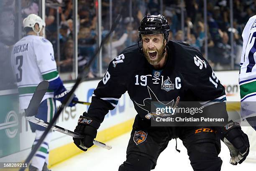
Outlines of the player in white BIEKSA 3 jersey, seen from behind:
{"label": "player in white BIEKSA 3 jersey, seen from behind", "polygon": [[[49,122],[56,111],[55,99],[62,102],[68,91],[59,78],[53,46],[49,40],[42,37],[44,27],[45,23],[39,16],[35,14],[28,15],[23,20],[23,28],[27,35],[13,46],[12,59],[18,85],[20,111],[28,108],[38,83],[42,80],[49,81],[48,91],[36,115],[37,118]],[[74,96],[73,100],[78,99]],[[74,105],[74,103],[69,104],[70,107]],[[44,133],[45,128],[33,123],[30,123],[30,126],[31,130],[36,132],[33,143],[35,145]],[[46,136],[32,158],[29,171],[48,171],[50,136],[51,133]]]}

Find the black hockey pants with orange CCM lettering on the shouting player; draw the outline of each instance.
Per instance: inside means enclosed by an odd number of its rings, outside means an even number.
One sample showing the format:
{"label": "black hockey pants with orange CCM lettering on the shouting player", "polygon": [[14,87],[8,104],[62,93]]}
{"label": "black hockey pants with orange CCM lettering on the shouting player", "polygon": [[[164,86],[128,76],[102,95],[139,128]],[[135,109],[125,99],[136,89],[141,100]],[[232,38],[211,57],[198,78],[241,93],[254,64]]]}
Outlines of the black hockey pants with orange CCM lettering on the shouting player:
{"label": "black hockey pants with orange CCM lettering on the shouting player", "polygon": [[[222,160],[218,157],[220,140],[214,131],[211,128],[203,127],[179,127],[178,129],[182,129],[182,131],[178,131],[178,137],[187,148],[193,170],[220,171],[222,165]],[[128,143],[126,161],[120,165],[118,171],[150,171],[154,169],[159,154],[164,151],[172,138],[177,138],[172,133],[173,129],[170,127],[151,127],[150,122],[137,115]],[[169,162],[172,163],[171,160]],[[168,167],[164,171],[172,171],[172,168]]]}

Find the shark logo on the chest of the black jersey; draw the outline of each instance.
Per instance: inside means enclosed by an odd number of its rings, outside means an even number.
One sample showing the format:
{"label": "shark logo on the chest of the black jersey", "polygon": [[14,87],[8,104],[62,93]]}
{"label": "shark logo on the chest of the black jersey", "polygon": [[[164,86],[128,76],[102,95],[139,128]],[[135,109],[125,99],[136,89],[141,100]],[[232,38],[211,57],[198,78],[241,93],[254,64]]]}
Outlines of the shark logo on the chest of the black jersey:
{"label": "shark logo on the chest of the black jersey", "polygon": [[[143,100],[143,105],[134,101],[138,107],[140,107],[143,110],[148,112],[148,114],[145,116],[145,118],[147,118],[147,119],[150,119],[152,116],[156,116],[156,117],[170,116],[171,114],[166,114],[166,113],[157,114],[156,108],[165,108],[166,106],[167,107],[170,106],[171,108],[176,108],[179,103],[179,96],[177,97],[177,101],[174,105],[174,100],[172,100],[170,102],[164,102],[164,103],[159,101],[158,98],[156,97],[156,95],[154,94],[154,92],[149,87],[148,87],[148,93],[149,93],[150,98],[145,98]],[[154,117],[153,117],[153,119],[154,119]]]}

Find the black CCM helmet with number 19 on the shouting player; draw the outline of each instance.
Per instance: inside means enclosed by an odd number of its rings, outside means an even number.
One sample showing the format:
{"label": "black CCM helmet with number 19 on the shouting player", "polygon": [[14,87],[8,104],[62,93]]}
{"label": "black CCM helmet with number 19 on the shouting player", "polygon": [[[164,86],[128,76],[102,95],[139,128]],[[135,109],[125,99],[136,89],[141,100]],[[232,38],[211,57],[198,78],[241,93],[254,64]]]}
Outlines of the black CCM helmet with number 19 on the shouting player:
{"label": "black CCM helmet with number 19 on the shouting player", "polygon": [[170,25],[168,24],[164,15],[146,15],[138,27],[139,37],[142,40],[142,35],[161,34],[164,39],[168,41]]}

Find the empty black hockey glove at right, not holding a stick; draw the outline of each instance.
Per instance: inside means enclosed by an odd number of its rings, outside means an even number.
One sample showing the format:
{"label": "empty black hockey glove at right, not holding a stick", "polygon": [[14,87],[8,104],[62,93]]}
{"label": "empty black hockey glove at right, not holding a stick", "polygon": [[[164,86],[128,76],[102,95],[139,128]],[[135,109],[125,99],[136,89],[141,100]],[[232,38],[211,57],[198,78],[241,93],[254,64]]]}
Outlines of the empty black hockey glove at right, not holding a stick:
{"label": "empty black hockey glove at right, not holding a stick", "polygon": [[242,131],[237,122],[229,123],[221,129],[220,139],[228,146],[230,151],[230,163],[232,165],[241,164],[249,153],[248,136]]}

